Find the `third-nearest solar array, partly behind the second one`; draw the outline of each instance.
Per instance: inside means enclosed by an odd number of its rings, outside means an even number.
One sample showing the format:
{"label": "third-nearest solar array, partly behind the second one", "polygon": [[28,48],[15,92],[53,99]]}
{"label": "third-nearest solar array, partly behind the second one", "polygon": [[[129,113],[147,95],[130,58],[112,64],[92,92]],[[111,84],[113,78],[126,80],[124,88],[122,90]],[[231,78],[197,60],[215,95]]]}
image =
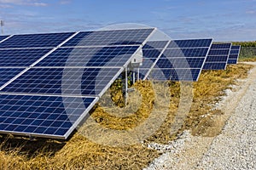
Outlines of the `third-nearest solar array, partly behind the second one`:
{"label": "third-nearest solar array, partly behind the second one", "polygon": [[224,70],[230,54],[231,43],[213,43],[207,55],[204,70]]}

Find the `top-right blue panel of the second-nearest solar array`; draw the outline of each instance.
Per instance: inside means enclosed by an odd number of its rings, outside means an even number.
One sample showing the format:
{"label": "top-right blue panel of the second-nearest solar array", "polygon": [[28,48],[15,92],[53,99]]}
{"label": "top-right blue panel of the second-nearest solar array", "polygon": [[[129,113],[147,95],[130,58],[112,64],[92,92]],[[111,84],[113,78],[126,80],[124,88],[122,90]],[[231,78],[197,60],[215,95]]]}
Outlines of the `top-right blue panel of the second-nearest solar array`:
{"label": "top-right blue panel of the second-nearest solar array", "polygon": [[173,40],[167,48],[202,48],[209,47],[212,39],[190,39],[190,40]]}

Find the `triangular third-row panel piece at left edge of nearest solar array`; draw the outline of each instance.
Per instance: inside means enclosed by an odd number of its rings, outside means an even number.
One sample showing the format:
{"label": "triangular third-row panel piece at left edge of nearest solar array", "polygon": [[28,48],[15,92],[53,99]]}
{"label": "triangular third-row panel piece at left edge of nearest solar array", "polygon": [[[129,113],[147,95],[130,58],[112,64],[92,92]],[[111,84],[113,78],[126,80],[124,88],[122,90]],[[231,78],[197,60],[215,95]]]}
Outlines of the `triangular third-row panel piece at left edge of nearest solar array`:
{"label": "triangular third-row panel piece at left edge of nearest solar array", "polygon": [[10,79],[18,75],[24,69],[14,69],[14,68],[0,68],[0,87],[3,86],[6,82],[9,82]]}

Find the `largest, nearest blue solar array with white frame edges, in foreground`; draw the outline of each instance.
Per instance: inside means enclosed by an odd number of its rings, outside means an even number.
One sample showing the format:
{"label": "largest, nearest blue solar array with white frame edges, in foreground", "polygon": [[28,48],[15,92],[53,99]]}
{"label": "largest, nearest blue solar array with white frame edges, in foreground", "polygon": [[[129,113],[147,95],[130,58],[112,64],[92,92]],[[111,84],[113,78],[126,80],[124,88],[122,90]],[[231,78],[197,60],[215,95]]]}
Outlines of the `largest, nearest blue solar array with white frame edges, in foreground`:
{"label": "largest, nearest blue solar array with white frame edges, in foreground", "polygon": [[154,28],[0,42],[0,132],[67,139]]}

